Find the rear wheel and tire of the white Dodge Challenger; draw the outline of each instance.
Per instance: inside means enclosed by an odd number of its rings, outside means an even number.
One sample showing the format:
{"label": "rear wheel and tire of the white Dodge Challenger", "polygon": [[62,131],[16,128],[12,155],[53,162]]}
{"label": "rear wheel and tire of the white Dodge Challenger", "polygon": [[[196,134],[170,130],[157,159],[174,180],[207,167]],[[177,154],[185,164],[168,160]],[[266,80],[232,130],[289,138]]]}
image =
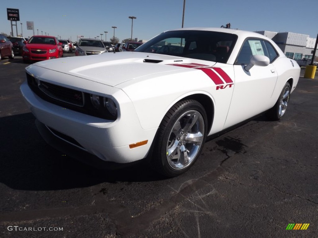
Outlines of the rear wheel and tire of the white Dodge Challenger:
{"label": "rear wheel and tire of the white Dodge Challenger", "polygon": [[280,120],[285,115],[288,102],[289,102],[289,97],[290,97],[290,84],[286,83],[285,86],[283,87],[283,90],[280,93],[280,96],[273,106],[273,108],[269,109],[268,111],[268,116],[270,119],[274,121]]}

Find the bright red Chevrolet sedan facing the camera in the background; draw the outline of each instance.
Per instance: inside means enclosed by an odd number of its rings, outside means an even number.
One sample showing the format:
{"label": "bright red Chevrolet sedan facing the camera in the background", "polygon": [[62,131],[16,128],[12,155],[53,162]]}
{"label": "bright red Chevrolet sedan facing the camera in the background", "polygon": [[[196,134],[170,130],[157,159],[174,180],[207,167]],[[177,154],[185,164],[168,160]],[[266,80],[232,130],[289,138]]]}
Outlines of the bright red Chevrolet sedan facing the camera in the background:
{"label": "bright red Chevrolet sedan facing the camera in the background", "polygon": [[23,47],[24,63],[30,60],[47,60],[63,57],[62,43],[54,36],[32,36]]}

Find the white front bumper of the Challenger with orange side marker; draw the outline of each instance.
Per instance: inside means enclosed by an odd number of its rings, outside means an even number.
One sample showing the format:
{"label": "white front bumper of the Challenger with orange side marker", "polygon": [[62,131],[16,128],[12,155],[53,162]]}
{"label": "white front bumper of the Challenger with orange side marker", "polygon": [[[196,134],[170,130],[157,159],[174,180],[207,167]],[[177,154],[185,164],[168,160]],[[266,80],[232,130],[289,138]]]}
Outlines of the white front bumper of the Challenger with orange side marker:
{"label": "white front bumper of the Challenger with orange side marker", "polygon": [[[104,85],[102,88],[105,87],[110,86]],[[116,121],[109,121],[46,102],[38,97],[26,82],[20,89],[37,120],[50,129],[53,136],[74,148],[95,155],[103,161],[116,163],[134,162],[148,155],[157,128],[142,129],[132,102],[122,90],[118,89],[116,94],[120,115]],[[57,133],[52,133],[54,131]],[[50,144],[46,138],[48,133],[41,135]],[[145,140],[148,140],[146,145],[129,148],[130,144]],[[62,147],[57,149],[63,151]],[[90,160],[89,157],[84,159],[86,163],[90,163],[87,161]]]}

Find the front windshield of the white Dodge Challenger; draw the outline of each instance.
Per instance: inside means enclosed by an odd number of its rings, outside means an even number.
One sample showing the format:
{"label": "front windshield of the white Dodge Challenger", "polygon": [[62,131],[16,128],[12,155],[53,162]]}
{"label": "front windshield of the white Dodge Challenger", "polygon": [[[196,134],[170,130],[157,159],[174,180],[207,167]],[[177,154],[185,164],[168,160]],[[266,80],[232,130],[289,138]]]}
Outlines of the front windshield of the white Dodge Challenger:
{"label": "front windshield of the white Dodge Challenger", "polygon": [[176,30],[163,32],[135,51],[226,63],[236,40],[237,36],[229,33]]}

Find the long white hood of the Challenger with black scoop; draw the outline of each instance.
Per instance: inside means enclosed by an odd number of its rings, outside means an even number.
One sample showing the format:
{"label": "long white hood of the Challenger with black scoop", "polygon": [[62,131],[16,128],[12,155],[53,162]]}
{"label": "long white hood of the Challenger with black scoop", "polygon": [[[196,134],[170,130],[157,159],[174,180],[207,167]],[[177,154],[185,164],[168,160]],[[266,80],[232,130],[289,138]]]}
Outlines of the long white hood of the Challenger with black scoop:
{"label": "long white hood of the Challenger with black scoop", "polygon": [[[188,67],[173,67],[172,64],[198,62],[202,61],[142,52],[117,52],[45,60],[30,65],[28,71],[32,72],[33,67],[42,67],[114,87],[142,76],[189,69]],[[215,64],[215,62],[209,63],[209,66]],[[67,82],[65,83],[67,84]]]}

